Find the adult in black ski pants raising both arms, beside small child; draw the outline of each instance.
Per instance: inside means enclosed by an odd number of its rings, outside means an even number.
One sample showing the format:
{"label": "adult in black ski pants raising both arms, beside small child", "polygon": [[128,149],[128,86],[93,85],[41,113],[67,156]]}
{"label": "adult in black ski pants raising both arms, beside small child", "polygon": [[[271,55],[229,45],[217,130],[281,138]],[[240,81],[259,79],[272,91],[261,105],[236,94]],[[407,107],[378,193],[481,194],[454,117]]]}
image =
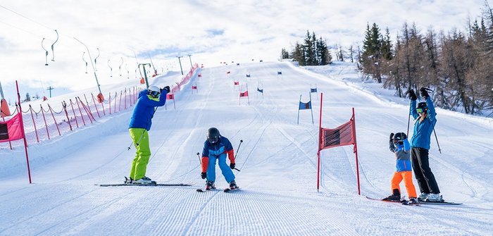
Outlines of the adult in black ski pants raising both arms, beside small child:
{"label": "adult in black ski pants raising both arms, beside small child", "polygon": [[420,89],[420,95],[426,102],[420,102],[416,107],[416,93],[413,89],[409,90],[411,116],[415,119],[413,137],[411,137],[411,161],[421,192],[418,200],[443,201],[437,180],[435,180],[435,175],[433,175],[428,162],[430,136],[437,123],[435,118],[437,113],[435,113],[435,106],[433,106],[430,95],[424,87]]}

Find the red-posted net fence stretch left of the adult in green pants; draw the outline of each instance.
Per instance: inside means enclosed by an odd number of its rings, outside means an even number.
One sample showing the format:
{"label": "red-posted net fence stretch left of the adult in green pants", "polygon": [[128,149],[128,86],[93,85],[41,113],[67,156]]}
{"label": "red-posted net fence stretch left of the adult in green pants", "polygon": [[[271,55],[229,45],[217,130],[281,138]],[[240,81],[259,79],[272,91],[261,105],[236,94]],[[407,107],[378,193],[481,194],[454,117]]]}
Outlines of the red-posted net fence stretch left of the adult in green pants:
{"label": "red-posted net fence stretch left of the adult in green pants", "polygon": [[[84,100],[80,97],[62,101],[61,106],[54,108],[51,104],[40,104],[39,108],[31,104],[23,104],[24,130],[27,144],[39,143],[46,139],[61,136],[85,125],[90,125],[97,118],[125,111],[137,102],[137,96],[142,88],[125,88],[118,92],[108,93],[108,99],[99,103],[94,94],[90,94],[89,100],[84,94]],[[112,96],[113,94],[113,96]],[[19,112],[18,104],[12,116]],[[25,108],[29,106],[29,108]],[[3,120],[2,120],[3,121]],[[18,144],[17,144],[18,143]],[[22,146],[22,140],[14,142],[0,142],[0,148]]]}

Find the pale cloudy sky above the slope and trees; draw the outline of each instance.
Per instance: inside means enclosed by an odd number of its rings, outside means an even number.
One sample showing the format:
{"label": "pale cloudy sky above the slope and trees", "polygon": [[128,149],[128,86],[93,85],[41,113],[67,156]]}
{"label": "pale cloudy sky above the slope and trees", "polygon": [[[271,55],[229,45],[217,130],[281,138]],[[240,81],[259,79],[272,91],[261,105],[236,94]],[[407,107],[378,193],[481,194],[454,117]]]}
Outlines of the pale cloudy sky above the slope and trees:
{"label": "pale cloudy sky above the slope and trees", "polygon": [[[49,86],[55,87],[54,95],[96,87],[90,61],[98,54],[99,84],[140,77],[137,61],[152,61],[158,73],[179,71],[177,56],[182,56],[184,72],[191,61],[204,66],[275,61],[282,48],[301,42],[306,30],[330,45],[361,45],[367,23],[377,23],[382,30],[389,27],[392,39],[405,22],[416,23],[420,30],[463,30],[468,18],[480,16],[483,4],[482,0],[0,1],[0,82],[9,100],[15,99],[15,80],[21,94],[31,96],[48,97]],[[54,30],[59,39],[53,53]],[[49,66],[44,66],[43,38]],[[92,60],[75,38],[87,45]]]}

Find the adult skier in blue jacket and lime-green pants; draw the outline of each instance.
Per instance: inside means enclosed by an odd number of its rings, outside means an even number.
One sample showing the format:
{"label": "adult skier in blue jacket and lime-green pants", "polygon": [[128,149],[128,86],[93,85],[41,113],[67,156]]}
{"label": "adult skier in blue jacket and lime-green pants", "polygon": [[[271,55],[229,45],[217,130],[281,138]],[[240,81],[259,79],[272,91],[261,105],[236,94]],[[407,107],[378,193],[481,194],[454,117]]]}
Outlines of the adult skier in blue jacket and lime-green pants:
{"label": "adult skier in blue jacket and lime-green pants", "polygon": [[151,129],[151,119],[156,112],[155,107],[164,106],[168,92],[170,92],[169,86],[160,89],[153,85],[139,93],[137,104],[135,104],[130,125],[128,126],[128,132],[130,132],[136,151],[135,159],[132,161],[132,167],[130,168],[130,180],[127,183],[153,183],[150,178],[145,176],[147,163],[149,163],[149,157],[151,156],[148,131]]}

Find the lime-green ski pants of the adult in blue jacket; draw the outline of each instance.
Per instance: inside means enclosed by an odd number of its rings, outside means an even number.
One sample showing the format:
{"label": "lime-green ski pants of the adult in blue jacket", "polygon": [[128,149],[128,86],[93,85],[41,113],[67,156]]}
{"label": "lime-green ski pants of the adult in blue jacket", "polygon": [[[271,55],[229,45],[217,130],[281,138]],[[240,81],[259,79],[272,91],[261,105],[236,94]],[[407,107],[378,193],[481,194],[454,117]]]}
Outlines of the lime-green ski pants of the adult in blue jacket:
{"label": "lime-green ski pants of the adult in blue jacket", "polygon": [[146,129],[130,128],[130,137],[134,142],[135,159],[132,161],[132,168],[130,168],[130,178],[133,180],[142,179],[146,175],[147,163],[149,163],[149,157],[151,157],[151,149],[149,148],[149,133]]}

